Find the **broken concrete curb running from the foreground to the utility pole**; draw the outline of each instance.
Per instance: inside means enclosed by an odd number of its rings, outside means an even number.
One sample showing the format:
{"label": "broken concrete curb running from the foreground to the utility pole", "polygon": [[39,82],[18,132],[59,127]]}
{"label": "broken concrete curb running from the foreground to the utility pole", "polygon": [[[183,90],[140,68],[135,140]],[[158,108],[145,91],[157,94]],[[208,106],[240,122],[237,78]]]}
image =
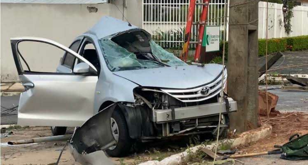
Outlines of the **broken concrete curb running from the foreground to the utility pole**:
{"label": "broken concrete curb running from the foreground to the utility pole", "polygon": [[[256,142],[259,139],[263,139],[267,136],[270,136],[272,133],[272,126],[268,124],[263,124],[260,128],[256,128],[247,132],[241,133],[237,138],[235,139],[223,139],[218,142],[218,144],[221,143],[231,143],[231,147],[237,147],[241,144]],[[144,163],[140,163],[139,165],[177,165],[182,162],[190,153],[197,152],[200,148],[206,148],[209,150],[213,150],[216,147],[217,143],[212,143],[209,145],[198,145],[195,147],[190,147],[184,152],[171,155],[161,161],[157,160],[150,160]]]}

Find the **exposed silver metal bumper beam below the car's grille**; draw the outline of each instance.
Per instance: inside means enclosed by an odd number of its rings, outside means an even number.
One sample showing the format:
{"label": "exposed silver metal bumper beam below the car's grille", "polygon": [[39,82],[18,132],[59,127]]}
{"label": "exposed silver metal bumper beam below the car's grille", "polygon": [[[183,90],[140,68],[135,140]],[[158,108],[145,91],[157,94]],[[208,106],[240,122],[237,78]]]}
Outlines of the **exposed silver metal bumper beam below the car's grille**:
{"label": "exposed silver metal bumper beam below the car's grille", "polygon": [[222,104],[223,105],[221,105],[221,103],[211,103],[191,107],[174,108],[173,113],[172,109],[154,109],[153,120],[156,123],[166,123],[177,120],[218,115],[220,110],[222,114],[237,111],[237,103],[230,97],[225,98],[225,101]]}

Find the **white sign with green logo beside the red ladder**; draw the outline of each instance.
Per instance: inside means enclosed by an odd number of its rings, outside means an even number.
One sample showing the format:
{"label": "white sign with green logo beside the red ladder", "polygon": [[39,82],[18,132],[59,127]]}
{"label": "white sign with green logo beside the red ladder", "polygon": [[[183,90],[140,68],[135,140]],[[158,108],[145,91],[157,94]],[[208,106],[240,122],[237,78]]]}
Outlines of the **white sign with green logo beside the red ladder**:
{"label": "white sign with green logo beside the red ladder", "polygon": [[219,51],[220,26],[206,26],[202,46],[205,46],[205,52]]}

